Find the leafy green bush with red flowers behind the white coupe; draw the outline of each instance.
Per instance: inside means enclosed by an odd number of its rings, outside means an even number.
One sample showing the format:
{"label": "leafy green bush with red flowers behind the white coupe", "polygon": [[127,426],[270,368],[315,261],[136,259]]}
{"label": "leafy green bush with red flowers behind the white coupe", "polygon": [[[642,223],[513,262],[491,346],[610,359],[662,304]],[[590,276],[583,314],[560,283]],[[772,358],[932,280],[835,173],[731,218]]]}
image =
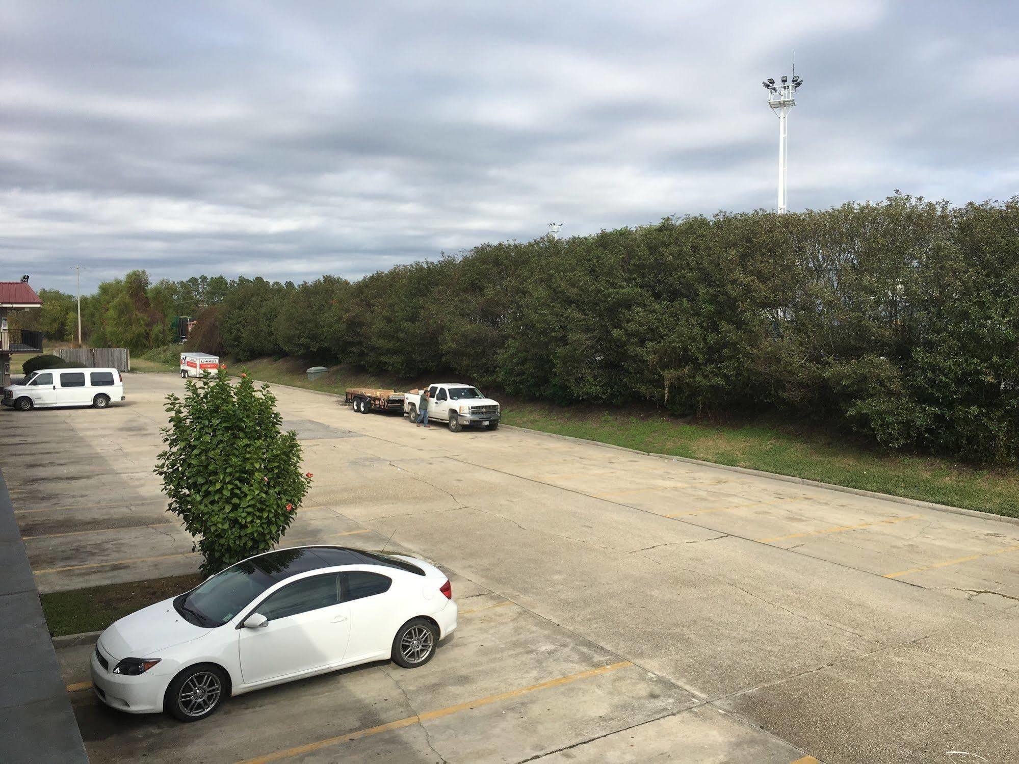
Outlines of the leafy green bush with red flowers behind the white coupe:
{"label": "leafy green bush with red flowers behind the white coupe", "polygon": [[225,369],[189,380],[183,399],[166,396],[166,448],[154,471],[206,575],[279,543],[312,480],[268,385],[256,390],[245,374],[230,384]]}

